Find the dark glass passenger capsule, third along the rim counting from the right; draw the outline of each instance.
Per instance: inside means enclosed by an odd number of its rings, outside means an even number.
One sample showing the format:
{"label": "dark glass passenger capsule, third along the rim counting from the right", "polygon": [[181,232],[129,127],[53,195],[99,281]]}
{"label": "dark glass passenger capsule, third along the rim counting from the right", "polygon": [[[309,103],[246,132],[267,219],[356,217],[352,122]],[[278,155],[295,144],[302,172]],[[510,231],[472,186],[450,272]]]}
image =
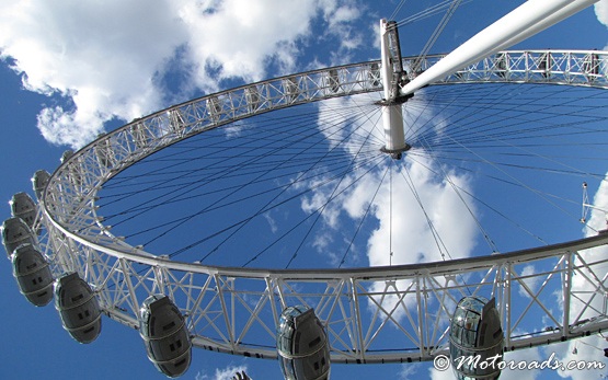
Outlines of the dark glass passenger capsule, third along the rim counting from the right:
{"label": "dark glass passenger capsule, third along the rim counting from the right", "polygon": [[139,311],[139,333],[148,358],[171,378],[185,373],[192,359],[192,343],[184,316],[163,295],[148,297]]}

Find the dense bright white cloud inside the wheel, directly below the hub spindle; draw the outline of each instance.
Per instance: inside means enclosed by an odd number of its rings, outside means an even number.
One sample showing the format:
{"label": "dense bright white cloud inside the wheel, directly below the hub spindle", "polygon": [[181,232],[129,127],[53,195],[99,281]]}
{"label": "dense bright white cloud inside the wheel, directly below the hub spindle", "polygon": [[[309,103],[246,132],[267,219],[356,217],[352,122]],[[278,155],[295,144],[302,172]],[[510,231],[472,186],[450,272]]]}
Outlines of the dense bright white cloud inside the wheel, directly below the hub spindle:
{"label": "dense bright white cloud inside the wheel, directly below the hub spindle", "polygon": [[[474,209],[472,205],[467,209],[460,196],[464,192],[472,193],[471,179],[449,169],[445,169],[448,171],[446,179],[438,179],[428,170],[433,168],[440,172],[436,164],[421,158],[414,161],[405,157],[404,168],[393,174],[392,212],[388,186],[378,196],[375,216],[380,226],[369,240],[370,265],[389,264],[391,234],[393,264],[469,256],[474,246],[477,227],[467,216],[469,209],[472,212]],[[410,177],[415,194],[408,184]],[[440,241],[436,240],[437,237]]]}

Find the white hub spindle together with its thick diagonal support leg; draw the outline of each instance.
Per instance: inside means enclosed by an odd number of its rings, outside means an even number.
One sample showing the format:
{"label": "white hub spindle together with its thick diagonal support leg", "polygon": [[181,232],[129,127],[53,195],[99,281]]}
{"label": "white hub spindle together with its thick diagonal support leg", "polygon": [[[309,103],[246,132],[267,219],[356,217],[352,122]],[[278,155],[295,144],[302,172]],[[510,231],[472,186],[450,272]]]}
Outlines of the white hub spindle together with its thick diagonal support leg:
{"label": "white hub spindle together with its thick diagonal support leg", "polygon": [[[403,151],[410,149],[404,138],[401,103],[412,96],[416,90],[508,48],[597,1],[528,0],[411,81],[408,80],[408,74],[401,64],[397,25],[381,20],[381,74],[385,87],[382,122],[386,138],[382,150],[399,159]],[[415,73],[409,74],[414,76]]]}

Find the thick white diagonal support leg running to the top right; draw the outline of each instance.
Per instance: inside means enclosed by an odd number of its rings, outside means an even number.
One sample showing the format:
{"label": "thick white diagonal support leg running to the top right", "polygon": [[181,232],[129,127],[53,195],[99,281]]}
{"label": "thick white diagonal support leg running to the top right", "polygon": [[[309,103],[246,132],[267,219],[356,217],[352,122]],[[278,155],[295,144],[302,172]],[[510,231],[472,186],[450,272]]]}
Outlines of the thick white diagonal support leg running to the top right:
{"label": "thick white diagonal support leg running to the top right", "polygon": [[529,0],[460,45],[401,89],[403,95],[515,45],[598,0]]}

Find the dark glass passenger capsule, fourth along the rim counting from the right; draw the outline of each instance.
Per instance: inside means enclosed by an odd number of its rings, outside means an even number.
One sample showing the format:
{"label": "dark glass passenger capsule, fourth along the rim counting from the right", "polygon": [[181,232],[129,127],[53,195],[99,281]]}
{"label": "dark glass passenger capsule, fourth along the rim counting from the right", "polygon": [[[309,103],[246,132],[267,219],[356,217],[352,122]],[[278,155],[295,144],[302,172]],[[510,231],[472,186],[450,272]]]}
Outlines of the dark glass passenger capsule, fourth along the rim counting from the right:
{"label": "dark glass passenger capsule, fourth along the rim counting from the right", "polygon": [[101,309],[93,290],[78,273],[68,273],[55,283],[55,308],[64,329],[80,343],[91,343],[101,333]]}

